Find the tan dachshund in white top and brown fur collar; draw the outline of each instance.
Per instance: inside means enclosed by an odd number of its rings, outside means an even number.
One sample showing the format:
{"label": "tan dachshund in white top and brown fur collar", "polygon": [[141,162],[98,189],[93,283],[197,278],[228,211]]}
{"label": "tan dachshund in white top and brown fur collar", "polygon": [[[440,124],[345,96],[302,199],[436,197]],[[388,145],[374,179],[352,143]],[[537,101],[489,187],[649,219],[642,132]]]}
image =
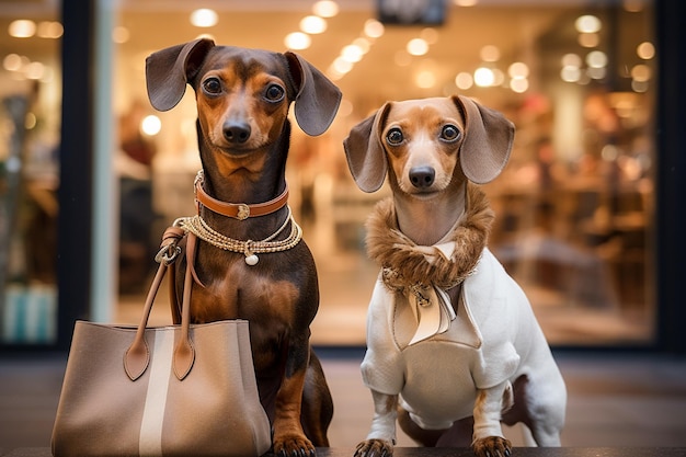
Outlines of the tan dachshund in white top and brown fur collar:
{"label": "tan dachshund in white top and brown fur collar", "polygon": [[559,446],[567,390],[519,286],[487,248],[476,184],[508,160],[514,125],[464,96],[388,102],[344,141],[357,185],[392,195],[367,221],[381,266],[362,364],[375,415],[356,457],[390,456],[396,420],[424,446],[505,457],[501,422]]}

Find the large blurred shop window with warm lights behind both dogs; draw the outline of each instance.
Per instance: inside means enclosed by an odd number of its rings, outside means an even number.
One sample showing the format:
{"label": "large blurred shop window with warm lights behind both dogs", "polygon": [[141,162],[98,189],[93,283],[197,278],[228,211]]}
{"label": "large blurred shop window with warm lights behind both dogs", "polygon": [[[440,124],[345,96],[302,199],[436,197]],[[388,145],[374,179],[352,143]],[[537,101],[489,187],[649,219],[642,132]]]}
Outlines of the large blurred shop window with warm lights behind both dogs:
{"label": "large blurred shop window with warm lights behind both dogs", "polygon": [[[193,214],[199,168],[193,93],[170,112],[153,112],[145,58],[205,34],[225,45],[289,47],[343,91],[327,134],[309,138],[294,132],[287,171],[290,205],[320,275],[316,343],[364,344],[378,272],[364,251],[364,221],[388,190],[357,190],[343,138],[387,100],[453,93],[502,111],[517,126],[505,172],[484,186],[496,212],[490,245],[529,296],[549,341],[654,341],[651,0],[454,0],[444,3],[441,21],[422,23],[418,13],[405,24],[399,18],[408,11],[387,11],[393,23],[378,22],[373,1],[213,4],[214,14],[196,13],[211,21],[194,25],[187,2],[121,2],[113,31],[114,107],[135,125],[121,124],[117,155],[125,160],[118,172],[130,178],[124,165],[136,165],[149,192],[137,202],[151,208],[137,213],[151,227],[138,231],[139,244],[122,240],[122,281],[133,267],[139,270],[129,276],[140,278],[162,228]],[[318,26],[307,30],[308,22]],[[135,132],[145,163],[126,156],[127,132]],[[119,316],[134,309],[128,304],[138,299],[136,287],[141,286],[122,283]]]}

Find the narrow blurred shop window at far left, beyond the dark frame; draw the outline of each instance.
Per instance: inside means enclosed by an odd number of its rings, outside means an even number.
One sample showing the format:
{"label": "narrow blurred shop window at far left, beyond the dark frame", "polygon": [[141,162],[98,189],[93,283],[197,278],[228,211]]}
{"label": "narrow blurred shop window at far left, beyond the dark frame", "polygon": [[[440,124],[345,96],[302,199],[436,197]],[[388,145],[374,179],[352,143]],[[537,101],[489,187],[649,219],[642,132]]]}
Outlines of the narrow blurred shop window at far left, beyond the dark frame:
{"label": "narrow blurred shop window at far left, beyond the dark frame", "polygon": [[56,2],[0,8],[0,345],[57,336],[58,16]]}

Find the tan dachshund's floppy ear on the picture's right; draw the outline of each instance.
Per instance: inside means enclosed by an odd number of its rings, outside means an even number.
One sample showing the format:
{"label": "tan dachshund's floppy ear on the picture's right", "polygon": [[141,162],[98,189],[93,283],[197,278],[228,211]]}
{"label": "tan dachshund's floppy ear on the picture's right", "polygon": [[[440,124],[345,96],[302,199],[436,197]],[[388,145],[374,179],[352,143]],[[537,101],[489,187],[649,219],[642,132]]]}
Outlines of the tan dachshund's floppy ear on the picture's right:
{"label": "tan dachshund's floppy ear on the picture's right", "polygon": [[505,168],[514,141],[514,124],[495,110],[471,99],[454,95],[465,115],[465,140],[460,165],[467,179],[477,184],[493,181]]}

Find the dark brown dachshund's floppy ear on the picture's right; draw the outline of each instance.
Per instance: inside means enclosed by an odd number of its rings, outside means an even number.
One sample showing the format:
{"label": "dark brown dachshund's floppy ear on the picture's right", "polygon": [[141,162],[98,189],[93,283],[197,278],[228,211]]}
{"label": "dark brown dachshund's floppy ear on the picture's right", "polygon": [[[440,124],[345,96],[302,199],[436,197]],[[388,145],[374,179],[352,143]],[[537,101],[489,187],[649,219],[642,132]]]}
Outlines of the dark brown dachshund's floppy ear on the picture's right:
{"label": "dark brown dachshund's floppy ear on the picture's right", "polygon": [[296,83],[296,121],[310,136],[327,132],[341,104],[341,91],[317,68],[295,53],[284,54]]}

